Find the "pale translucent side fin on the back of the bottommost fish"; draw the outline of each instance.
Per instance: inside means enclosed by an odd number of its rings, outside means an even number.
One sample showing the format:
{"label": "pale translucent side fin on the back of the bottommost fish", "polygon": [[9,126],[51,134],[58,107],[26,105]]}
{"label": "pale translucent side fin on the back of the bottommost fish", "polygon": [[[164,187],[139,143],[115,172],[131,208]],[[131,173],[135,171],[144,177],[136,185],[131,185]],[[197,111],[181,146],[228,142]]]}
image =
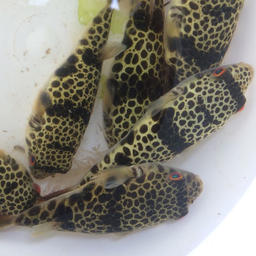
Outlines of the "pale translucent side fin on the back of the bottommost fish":
{"label": "pale translucent side fin on the back of the bottommost fish", "polygon": [[109,169],[103,170],[91,178],[91,181],[102,183],[104,188],[110,189],[118,187],[129,178],[133,178],[134,174],[131,167],[124,165],[115,165]]}

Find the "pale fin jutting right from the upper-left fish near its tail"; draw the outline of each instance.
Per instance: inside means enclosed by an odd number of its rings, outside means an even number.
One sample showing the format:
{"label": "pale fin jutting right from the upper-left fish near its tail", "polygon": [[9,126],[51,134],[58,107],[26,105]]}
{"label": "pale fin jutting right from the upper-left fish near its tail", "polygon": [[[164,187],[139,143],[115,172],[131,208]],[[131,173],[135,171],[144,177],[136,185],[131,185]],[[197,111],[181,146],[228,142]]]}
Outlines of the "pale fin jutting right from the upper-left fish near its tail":
{"label": "pale fin jutting right from the upper-left fish near its tail", "polygon": [[120,42],[111,42],[106,43],[100,48],[98,62],[111,59],[123,52],[127,48],[127,45],[124,45]]}

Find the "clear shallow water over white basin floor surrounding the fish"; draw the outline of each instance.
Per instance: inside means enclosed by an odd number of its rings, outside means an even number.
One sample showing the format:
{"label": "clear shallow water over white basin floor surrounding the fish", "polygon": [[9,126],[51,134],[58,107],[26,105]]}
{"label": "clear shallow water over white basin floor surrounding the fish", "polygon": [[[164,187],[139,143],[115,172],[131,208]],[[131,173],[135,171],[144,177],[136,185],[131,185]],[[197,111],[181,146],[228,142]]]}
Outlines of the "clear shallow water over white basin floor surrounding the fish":
{"label": "clear shallow water over white basin floor surrounding the fish", "polygon": [[[1,148],[12,152],[14,145],[25,144],[27,118],[40,87],[68,55],[84,27],[78,19],[78,1],[8,1],[1,6],[4,8],[1,11],[0,49],[4,61],[0,62],[0,137]],[[254,1],[245,1],[223,64],[244,61],[256,68],[256,56],[252,51],[255,8]],[[116,38],[122,39],[122,35],[116,33],[109,39]],[[110,64],[111,60],[104,63],[105,78]],[[83,149],[91,151],[98,144],[100,150],[107,149],[101,131],[102,120],[98,118],[101,117],[101,89],[98,96],[76,159],[90,155]],[[28,228],[14,227],[1,230],[1,251],[11,250],[19,255],[27,255],[28,248],[37,255],[58,255],[60,252],[61,255],[81,252],[90,255],[140,255],[145,252],[148,255],[187,255],[225,218],[255,177],[255,78],[245,96],[244,110],[232,116],[223,129],[203,140],[184,158],[175,157],[168,162],[199,174],[204,181],[204,191],[190,205],[185,218],[137,230],[119,239],[112,235],[57,231],[31,238]],[[25,156],[17,152],[13,155],[19,155],[28,167]]]}

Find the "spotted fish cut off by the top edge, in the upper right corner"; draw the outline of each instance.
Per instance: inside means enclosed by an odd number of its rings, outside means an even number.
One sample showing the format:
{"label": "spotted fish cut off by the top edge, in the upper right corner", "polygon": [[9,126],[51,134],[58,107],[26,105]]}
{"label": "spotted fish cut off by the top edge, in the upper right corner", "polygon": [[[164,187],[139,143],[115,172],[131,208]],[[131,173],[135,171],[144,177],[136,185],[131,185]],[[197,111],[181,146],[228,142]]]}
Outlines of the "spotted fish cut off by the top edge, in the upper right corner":
{"label": "spotted fish cut off by the top edge, in the upper right corner", "polygon": [[169,84],[220,66],[236,29],[244,0],[172,0],[164,41]]}

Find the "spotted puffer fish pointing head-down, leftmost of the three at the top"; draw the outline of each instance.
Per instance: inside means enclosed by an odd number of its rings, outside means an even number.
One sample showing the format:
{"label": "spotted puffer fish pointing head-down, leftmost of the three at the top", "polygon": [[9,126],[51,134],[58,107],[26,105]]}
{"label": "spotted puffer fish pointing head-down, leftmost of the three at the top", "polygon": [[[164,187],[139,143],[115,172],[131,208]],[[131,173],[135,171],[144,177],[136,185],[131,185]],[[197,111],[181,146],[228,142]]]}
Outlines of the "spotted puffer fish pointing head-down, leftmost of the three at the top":
{"label": "spotted puffer fish pointing head-down, leftmost of the three at the top", "polygon": [[35,101],[26,131],[30,170],[37,179],[66,173],[88,125],[102,61],[126,46],[107,42],[111,0],[87,25],[74,52],[50,77]]}

